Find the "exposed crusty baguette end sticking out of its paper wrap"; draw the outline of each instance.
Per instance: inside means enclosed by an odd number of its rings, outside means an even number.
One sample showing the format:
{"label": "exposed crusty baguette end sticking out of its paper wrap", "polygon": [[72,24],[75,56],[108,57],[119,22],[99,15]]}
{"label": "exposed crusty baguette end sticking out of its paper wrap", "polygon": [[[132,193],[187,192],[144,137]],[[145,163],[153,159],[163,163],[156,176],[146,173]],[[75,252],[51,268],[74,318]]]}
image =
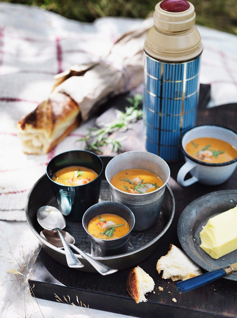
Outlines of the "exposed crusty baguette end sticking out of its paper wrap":
{"label": "exposed crusty baguette end sticking out of its paper wrap", "polygon": [[46,154],[81,122],[76,102],[64,93],[55,93],[16,125],[27,154]]}

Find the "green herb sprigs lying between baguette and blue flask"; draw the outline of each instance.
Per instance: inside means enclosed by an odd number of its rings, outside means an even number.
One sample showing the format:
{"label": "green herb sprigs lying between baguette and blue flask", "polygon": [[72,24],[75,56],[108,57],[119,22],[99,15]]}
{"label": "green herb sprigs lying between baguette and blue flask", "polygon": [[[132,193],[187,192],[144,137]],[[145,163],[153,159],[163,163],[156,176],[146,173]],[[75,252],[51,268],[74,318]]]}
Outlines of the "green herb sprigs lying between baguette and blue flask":
{"label": "green herb sprigs lying between baguette and blue flask", "polygon": [[140,119],[143,113],[142,109],[140,108],[142,101],[141,94],[136,94],[134,98],[128,97],[127,100],[131,106],[126,107],[125,112],[116,110],[116,119],[114,121],[111,121],[107,124],[101,123],[103,127],[99,129],[88,128],[89,132],[87,136],[76,141],[86,141],[87,150],[94,150],[101,154],[103,151],[100,148],[106,145],[111,145],[112,151],[119,152],[122,149],[121,142],[127,139],[127,136],[113,139],[109,138],[109,135],[117,132],[120,129],[129,129],[129,124]]}

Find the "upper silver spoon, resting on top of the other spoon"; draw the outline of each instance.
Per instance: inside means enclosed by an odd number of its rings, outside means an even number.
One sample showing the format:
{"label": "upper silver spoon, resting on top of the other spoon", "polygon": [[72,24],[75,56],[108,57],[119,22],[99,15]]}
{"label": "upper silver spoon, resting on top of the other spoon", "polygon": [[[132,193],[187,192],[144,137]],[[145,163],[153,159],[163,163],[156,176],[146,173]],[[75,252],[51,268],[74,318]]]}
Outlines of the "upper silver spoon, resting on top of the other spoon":
{"label": "upper silver spoon, resting on top of the other spoon", "polygon": [[37,220],[44,229],[55,230],[58,233],[63,243],[68,266],[72,268],[83,267],[84,265],[76,258],[74,253],[71,251],[60,231],[66,226],[63,214],[53,206],[44,205],[37,211]]}

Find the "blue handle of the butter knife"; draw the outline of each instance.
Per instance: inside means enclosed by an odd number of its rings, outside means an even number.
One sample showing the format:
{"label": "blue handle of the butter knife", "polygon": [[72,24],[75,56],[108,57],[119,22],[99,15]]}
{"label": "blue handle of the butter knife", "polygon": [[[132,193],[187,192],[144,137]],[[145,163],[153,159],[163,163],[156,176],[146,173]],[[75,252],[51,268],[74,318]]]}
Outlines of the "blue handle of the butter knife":
{"label": "blue handle of the butter knife", "polygon": [[187,293],[190,292],[190,290],[204,286],[224,276],[226,276],[226,271],[223,268],[216,269],[213,272],[208,272],[176,283],[176,290],[180,293]]}

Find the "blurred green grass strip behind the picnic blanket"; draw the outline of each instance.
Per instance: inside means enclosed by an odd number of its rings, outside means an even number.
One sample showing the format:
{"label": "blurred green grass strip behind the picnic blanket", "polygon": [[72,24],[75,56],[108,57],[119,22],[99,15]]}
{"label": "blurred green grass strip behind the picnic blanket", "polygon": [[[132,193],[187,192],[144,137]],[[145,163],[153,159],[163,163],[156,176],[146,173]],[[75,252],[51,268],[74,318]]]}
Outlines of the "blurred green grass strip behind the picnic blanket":
{"label": "blurred green grass strip behind the picnic blanket", "polygon": [[[1,0],[0,0],[1,1]],[[37,5],[69,19],[92,22],[98,17],[145,18],[157,0],[5,0]],[[237,34],[237,0],[190,0],[195,6],[196,23]]]}

